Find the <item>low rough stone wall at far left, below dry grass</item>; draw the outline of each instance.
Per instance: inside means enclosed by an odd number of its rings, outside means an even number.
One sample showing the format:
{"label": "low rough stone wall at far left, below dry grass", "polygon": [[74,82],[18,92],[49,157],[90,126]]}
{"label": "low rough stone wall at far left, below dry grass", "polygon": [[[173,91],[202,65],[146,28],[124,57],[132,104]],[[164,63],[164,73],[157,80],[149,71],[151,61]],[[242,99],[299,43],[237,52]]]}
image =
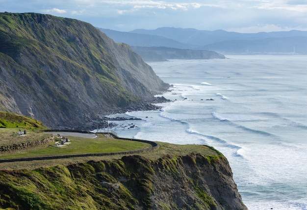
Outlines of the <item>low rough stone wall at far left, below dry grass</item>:
{"label": "low rough stone wall at far left, below dry grass", "polygon": [[53,136],[44,139],[44,140],[35,140],[35,141],[28,141],[28,142],[22,142],[22,143],[15,143],[15,144],[9,144],[9,145],[2,145],[0,146],[0,152],[8,152],[11,150],[19,150],[19,149],[26,149],[31,147],[37,147],[44,144],[50,144],[54,141]]}

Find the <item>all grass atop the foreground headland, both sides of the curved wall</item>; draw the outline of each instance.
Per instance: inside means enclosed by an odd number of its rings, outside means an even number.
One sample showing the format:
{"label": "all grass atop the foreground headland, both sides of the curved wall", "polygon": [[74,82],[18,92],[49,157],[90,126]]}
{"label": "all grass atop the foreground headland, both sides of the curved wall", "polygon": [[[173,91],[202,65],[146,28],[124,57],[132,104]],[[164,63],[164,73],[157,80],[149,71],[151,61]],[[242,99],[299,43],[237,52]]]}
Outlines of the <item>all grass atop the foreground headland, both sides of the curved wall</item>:
{"label": "all grass atop the foreground headland, both sides of the curved wall", "polygon": [[[22,131],[26,130],[26,135],[19,135],[19,129]],[[43,125],[40,121],[37,121],[30,117],[19,116],[13,113],[0,112],[0,146],[35,140],[43,140],[51,136],[51,134],[39,132],[38,129],[47,129],[47,127]],[[95,139],[69,137],[69,140],[71,143],[63,147],[55,147],[54,143],[52,143],[52,145],[41,145],[37,148],[10,151],[10,153],[0,152],[0,160],[86,153],[110,153],[138,150],[151,147],[151,145],[147,143],[106,138],[103,135],[98,136],[98,138]],[[56,137],[55,141],[57,141]],[[222,155],[215,149],[204,145],[177,145],[165,142],[157,143],[159,143],[159,149],[139,154],[151,160],[159,159],[163,156],[170,154],[176,156],[185,156],[190,155],[191,153],[200,153],[208,156]],[[68,159],[0,163],[0,170],[35,169],[39,167],[50,167],[55,165],[84,163],[87,161],[107,161],[121,159],[123,156],[124,155],[99,157],[91,156]]]}

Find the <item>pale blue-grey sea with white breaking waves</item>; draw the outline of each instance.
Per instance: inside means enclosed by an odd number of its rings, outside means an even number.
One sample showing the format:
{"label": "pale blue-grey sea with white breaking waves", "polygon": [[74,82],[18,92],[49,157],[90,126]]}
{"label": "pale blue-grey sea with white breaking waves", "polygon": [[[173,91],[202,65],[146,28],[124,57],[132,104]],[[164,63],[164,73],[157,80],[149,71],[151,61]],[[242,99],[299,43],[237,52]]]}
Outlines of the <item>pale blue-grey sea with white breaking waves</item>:
{"label": "pale blue-grey sea with white breaking waves", "polygon": [[[206,144],[228,159],[249,210],[307,210],[307,56],[151,62],[174,87],[161,110],[110,117],[121,137]],[[133,125],[133,126],[132,126]]]}

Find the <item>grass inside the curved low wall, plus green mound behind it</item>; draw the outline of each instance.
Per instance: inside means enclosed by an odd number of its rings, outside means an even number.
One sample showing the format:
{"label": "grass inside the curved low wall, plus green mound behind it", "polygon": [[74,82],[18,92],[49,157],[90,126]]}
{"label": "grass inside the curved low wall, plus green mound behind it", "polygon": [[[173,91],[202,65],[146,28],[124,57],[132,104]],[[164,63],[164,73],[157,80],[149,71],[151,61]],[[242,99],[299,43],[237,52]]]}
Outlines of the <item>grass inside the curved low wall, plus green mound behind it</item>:
{"label": "grass inside the curved low wall, plus green mound behind it", "polygon": [[[44,126],[41,122],[30,117],[0,112],[0,122],[0,125],[3,125],[3,127],[10,127],[0,128],[0,146],[43,140],[51,136],[51,134],[34,130],[33,127],[36,129],[46,129],[47,127]],[[19,135],[19,128],[27,128],[32,130],[27,130],[26,135]],[[24,130],[22,132],[24,132]],[[103,135],[99,135],[97,138],[93,139],[79,137],[68,137],[68,139],[70,140],[70,144],[61,147],[54,146],[54,143],[52,143],[52,145],[49,146],[43,145],[34,148],[9,151],[5,153],[2,152],[2,154],[0,153],[0,159],[75,155],[87,153],[110,153],[139,150],[151,147],[151,145],[147,143],[106,138]],[[61,141],[61,139],[55,137],[55,141]]]}

